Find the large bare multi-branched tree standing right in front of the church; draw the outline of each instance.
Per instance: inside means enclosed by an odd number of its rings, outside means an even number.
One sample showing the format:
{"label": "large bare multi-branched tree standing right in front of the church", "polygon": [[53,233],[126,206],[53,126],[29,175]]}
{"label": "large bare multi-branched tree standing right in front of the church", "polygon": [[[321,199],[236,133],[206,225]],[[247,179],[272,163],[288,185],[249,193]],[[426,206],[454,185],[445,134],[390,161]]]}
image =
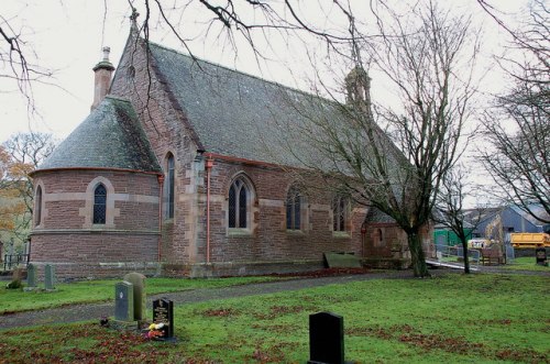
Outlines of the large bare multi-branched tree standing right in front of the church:
{"label": "large bare multi-branched tree standing right in front of the church", "polygon": [[[473,95],[469,73],[477,48],[469,38],[469,20],[452,18],[431,2],[411,8],[406,18],[383,10],[391,21],[378,23],[380,43],[366,43],[350,26],[358,66],[346,78],[348,103],[336,106],[345,118],[329,120],[323,110],[309,113],[300,126],[308,146],[295,154],[308,168],[338,180],[355,201],[395,219],[407,234],[414,274],[424,277],[429,273],[420,231],[462,151]],[[402,109],[373,112],[362,52],[397,87]],[[464,56],[470,68],[460,68]],[[377,123],[386,125],[393,142]],[[307,159],[302,150],[310,151]]]}

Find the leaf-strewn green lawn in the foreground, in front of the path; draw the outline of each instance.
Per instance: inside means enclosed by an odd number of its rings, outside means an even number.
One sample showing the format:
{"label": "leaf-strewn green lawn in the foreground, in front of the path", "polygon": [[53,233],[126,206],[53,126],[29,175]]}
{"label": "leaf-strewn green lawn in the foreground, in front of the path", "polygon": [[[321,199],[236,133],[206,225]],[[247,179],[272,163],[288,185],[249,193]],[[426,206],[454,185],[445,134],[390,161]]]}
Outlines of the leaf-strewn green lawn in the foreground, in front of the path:
{"label": "leaf-strewn green lawn in the foreground, in front of the path", "polygon": [[305,363],[318,311],[343,316],[348,361],[548,363],[549,296],[541,276],[355,282],[175,307],[176,344],[97,322],[0,331],[0,363]]}

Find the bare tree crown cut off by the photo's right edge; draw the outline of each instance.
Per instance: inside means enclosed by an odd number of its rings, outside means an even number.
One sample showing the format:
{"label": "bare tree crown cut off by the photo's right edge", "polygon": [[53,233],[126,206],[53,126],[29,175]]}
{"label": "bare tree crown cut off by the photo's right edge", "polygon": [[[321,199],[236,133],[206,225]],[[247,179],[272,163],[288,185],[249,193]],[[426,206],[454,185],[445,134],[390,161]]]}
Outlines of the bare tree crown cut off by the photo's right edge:
{"label": "bare tree crown cut off by the photo's right edge", "polygon": [[517,31],[495,15],[513,35],[509,53],[520,51],[522,59],[501,59],[512,87],[485,113],[488,143],[481,152],[497,195],[550,223],[550,18],[544,1],[535,1],[529,15]]}

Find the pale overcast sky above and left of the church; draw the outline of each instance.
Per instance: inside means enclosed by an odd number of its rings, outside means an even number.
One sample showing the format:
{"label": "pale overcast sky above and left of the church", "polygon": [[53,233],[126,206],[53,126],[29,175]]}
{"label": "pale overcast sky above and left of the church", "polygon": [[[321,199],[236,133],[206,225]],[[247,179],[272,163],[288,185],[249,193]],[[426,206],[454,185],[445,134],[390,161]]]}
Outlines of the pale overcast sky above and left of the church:
{"label": "pale overcast sky above and left of the church", "polygon": [[[396,0],[396,3],[398,2]],[[316,1],[308,0],[308,3]],[[355,3],[364,4],[367,1],[356,0]],[[494,3],[499,9],[514,12],[525,7],[527,0],[499,0]],[[139,3],[135,4],[139,8]],[[458,11],[473,10],[476,21],[484,23],[485,32],[490,34],[490,47],[496,47],[504,42],[504,37],[501,38],[503,32],[483,14],[475,0],[457,0],[452,1],[452,4]],[[144,13],[143,10],[139,11]],[[309,11],[311,16],[322,13],[317,8],[305,8],[302,11]],[[101,58],[101,47],[110,46],[111,62],[114,66],[119,62],[130,30],[128,1],[2,0],[0,15],[3,18],[0,18],[0,25],[9,21],[14,31],[20,32],[21,37],[33,47],[35,56],[31,55],[31,60],[54,70],[54,77],[46,79],[47,84],[34,84],[37,112],[31,115],[15,86],[0,78],[0,142],[15,132],[29,131],[30,128],[53,133],[58,139],[65,137],[89,113],[94,91],[91,68]],[[246,46],[241,47],[240,44],[235,57],[224,38],[204,42],[205,22],[210,18],[211,13],[205,10],[200,13],[190,10],[185,19],[185,24],[188,24],[186,29],[193,31],[187,35],[193,38],[189,44],[196,56],[293,87],[307,88],[304,79],[311,67],[306,63],[296,62],[296,57],[300,56],[299,49],[288,49],[288,46],[293,47],[292,44],[268,40],[263,46],[273,47],[271,52],[276,55],[273,59],[258,65],[250,49],[246,49]],[[327,20],[324,22],[327,26],[337,26]],[[185,52],[174,37],[167,34],[168,32],[162,29],[151,30],[153,41]],[[486,51],[484,56],[488,59],[494,49]],[[492,77],[488,82],[501,82],[498,75]],[[378,92],[377,87],[382,88],[382,85],[374,79],[373,93],[383,95],[382,91]]]}

